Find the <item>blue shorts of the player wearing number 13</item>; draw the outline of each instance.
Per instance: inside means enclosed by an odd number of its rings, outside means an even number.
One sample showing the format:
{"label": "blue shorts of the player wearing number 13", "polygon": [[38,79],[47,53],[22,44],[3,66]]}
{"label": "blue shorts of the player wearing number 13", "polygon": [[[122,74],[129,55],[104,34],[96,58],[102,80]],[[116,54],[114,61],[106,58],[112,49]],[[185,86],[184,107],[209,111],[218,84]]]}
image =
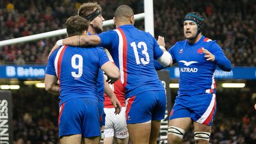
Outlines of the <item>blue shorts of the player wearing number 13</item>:
{"label": "blue shorts of the player wearing number 13", "polygon": [[146,91],[126,99],[126,122],[162,120],[166,109],[165,91]]}

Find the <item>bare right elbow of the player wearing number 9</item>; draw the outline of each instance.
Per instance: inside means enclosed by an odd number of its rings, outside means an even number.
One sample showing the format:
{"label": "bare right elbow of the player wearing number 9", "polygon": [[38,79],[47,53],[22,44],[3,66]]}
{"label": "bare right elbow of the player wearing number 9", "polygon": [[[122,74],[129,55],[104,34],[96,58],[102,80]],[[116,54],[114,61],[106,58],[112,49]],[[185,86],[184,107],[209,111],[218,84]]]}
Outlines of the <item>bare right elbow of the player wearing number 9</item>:
{"label": "bare right elbow of the player wearing number 9", "polygon": [[101,69],[105,72],[105,75],[107,75],[107,81],[110,84],[114,84],[114,82],[120,78],[119,68],[110,61],[104,63],[104,65],[101,66]]}

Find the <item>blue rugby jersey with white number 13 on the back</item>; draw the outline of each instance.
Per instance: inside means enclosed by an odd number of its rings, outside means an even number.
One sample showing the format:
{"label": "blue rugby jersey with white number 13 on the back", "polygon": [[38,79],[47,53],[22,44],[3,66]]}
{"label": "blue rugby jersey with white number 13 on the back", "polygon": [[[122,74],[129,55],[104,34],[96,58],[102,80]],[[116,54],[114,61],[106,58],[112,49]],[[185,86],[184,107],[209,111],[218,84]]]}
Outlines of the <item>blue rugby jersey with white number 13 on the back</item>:
{"label": "blue rugby jersey with white number 13 on the back", "polygon": [[100,46],[108,49],[120,69],[126,98],[145,91],[164,90],[153,67],[154,59],[162,56],[163,52],[151,34],[133,25],[121,25],[98,36]]}

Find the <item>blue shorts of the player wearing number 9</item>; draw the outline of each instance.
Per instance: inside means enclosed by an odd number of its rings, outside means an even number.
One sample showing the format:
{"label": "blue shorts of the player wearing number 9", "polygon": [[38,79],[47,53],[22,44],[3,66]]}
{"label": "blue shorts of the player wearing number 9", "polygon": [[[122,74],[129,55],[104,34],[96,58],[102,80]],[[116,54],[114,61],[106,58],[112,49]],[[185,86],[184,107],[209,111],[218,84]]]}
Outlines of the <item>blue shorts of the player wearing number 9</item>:
{"label": "blue shorts of the player wearing number 9", "polygon": [[59,109],[59,137],[101,135],[98,101],[94,98],[73,98],[60,105]]}

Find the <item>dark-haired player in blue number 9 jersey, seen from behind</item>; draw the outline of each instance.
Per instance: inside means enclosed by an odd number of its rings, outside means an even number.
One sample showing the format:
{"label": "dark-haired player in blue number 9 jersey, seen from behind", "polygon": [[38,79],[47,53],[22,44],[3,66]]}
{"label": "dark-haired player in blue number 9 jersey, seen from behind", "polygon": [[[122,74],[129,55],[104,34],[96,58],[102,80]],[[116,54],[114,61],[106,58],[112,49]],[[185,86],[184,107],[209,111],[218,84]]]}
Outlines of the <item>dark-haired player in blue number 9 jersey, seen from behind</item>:
{"label": "dark-haired player in blue number 9 jersey, seen from behind", "polygon": [[[66,22],[68,36],[87,35],[88,21],[71,17]],[[91,47],[92,48],[92,47]],[[46,90],[60,93],[60,143],[98,143],[101,135],[97,77],[102,69],[111,81],[120,78],[119,69],[101,47],[81,49],[61,46],[49,57]],[[59,79],[59,85],[55,85]]]}

